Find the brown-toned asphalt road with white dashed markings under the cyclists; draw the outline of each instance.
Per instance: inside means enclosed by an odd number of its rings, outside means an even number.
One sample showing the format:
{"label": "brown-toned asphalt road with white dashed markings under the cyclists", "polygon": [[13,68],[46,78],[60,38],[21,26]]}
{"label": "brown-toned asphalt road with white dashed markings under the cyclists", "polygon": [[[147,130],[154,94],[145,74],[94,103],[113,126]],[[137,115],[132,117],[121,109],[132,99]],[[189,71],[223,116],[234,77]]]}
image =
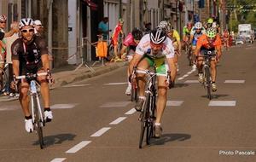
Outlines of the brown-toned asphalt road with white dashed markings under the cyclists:
{"label": "brown-toned asphalt road with white dashed markings under the cyclists", "polygon": [[55,119],[44,127],[43,150],[37,134],[24,129],[19,102],[0,101],[0,161],[253,162],[255,49],[224,51],[211,102],[183,55],[176,87],[168,91],[163,136],[143,149],[138,113],[125,95],[125,67],[51,90]]}

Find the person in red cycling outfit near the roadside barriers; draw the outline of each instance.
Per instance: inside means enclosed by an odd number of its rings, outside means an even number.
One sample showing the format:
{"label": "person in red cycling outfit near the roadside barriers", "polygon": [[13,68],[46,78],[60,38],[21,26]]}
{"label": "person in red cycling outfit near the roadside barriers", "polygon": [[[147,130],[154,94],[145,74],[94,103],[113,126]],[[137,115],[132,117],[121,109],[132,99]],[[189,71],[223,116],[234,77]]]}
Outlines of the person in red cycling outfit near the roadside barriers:
{"label": "person in red cycling outfit near the roadside barriers", "polygon": [[118,39],[119,39],[119,33],[121,33],[121,35],[123,35],[123,25],[124,25],[124,20],[123,19],[119,19],[119,23],[117,26],[115,26],[114,30],[113,30],[113,36],[111,39],[111,42],[113,44],[113,55],[115,58],[113,58],[113,61],[119,61],[119,55],[118,55]]}

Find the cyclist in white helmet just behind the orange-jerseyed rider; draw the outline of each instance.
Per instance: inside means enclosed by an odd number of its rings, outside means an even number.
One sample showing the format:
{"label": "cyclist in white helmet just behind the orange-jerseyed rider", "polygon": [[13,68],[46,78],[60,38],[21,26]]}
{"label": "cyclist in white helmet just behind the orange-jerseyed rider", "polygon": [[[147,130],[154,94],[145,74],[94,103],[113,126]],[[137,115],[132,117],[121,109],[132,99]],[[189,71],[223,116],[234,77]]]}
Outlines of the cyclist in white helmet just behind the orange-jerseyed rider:
{"label": "cyclist in white helmet just behind the orange-jerseyed rider", "polygon": [[[204,27],[202,26],[201,22],[196,22],[195,26],[193,27],[191,33],[190,33],[190,43],[192,44],[192,54],[195,51],[196,42],[198,38],[201,37],[202,34],[205,34],[206,31]],[[193,68],[196,68],[195,65],[193,65]]]}

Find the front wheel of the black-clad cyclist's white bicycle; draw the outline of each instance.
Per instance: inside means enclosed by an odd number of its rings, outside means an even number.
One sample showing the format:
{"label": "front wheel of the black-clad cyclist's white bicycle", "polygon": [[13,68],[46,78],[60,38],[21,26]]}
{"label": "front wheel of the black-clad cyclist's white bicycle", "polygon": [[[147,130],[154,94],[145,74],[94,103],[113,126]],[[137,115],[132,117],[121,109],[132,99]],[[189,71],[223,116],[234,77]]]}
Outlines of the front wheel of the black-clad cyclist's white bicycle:
{"label": "front wheel of the black-clad cyclist's white bicycle", "polygon": [[38,102],[37,102],[37,98],[36,95],[33,96],[33,100],[34,100],[34,110],[35,110],[35,127],[36,130],[38,132],[38,142],[40,144],[40,148],[43,149],[44,148],[44,137],[43,137],[43,121],[41,121],[40,119],[40,112],[38,111]]}

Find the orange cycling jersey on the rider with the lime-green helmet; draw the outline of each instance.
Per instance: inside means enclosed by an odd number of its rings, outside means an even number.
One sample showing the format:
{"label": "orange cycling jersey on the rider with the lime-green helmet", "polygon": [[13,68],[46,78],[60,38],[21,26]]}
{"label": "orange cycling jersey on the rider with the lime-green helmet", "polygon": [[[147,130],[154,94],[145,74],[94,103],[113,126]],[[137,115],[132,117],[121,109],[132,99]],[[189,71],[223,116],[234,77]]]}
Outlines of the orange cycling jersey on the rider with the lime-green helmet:
{"label": "orange cycling jersey on the rider with the lime-green helmet", "polygon": [[217,49],[221,48],[221,39],[219,35],[216,35],[216,39],[213,43],[209,43],[207,40],[207,34],[201,35],[201,37],[197,40],[196,49]]}

